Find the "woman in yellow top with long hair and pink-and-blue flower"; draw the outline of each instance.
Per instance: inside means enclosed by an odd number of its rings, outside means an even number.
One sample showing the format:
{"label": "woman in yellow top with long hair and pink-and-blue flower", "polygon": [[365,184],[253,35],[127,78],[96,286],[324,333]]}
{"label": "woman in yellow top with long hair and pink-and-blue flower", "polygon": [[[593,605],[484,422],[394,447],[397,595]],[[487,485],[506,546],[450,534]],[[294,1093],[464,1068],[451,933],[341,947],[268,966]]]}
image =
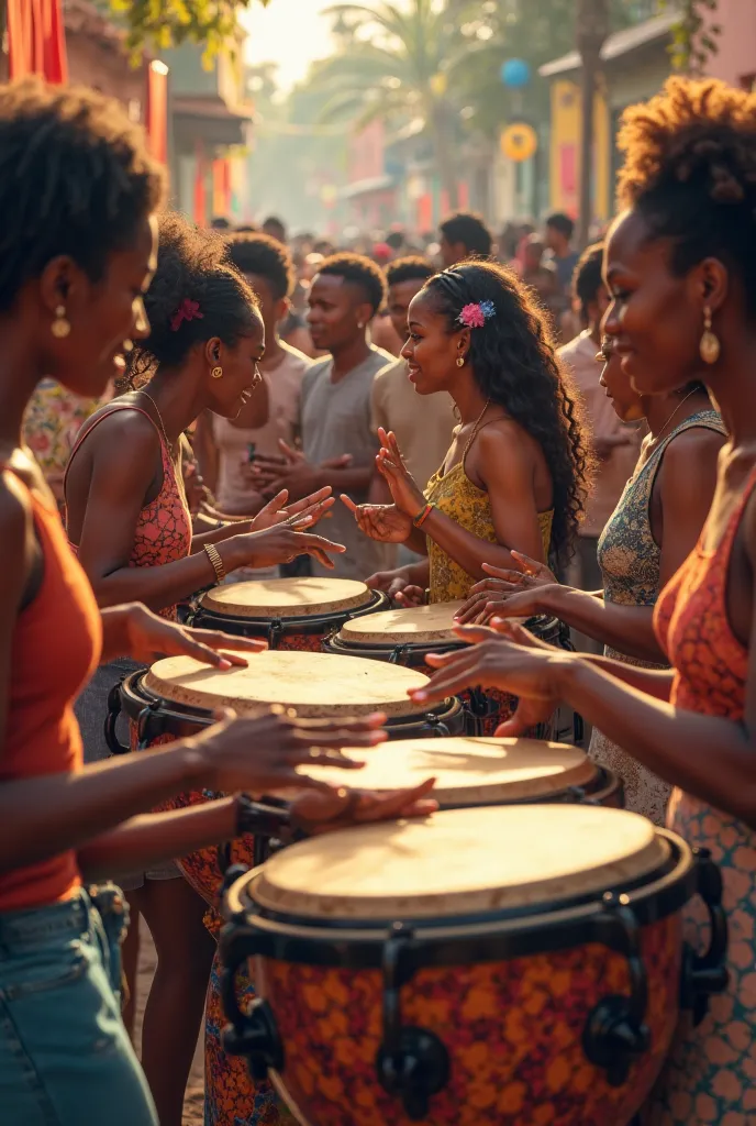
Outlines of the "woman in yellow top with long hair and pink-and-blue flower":
{"label": "woman in yellow top with long hair and pink-and-blue flower", "polygon": [[[403,605],[466,598],[483,563],[511,551],[564,557],[580,513],[587,457],[576,406],[528,291],[493,262],[431,278],[410,306],[402,355],[420,395],[448,391],[461,417],[444,465],[413,481],[393,435],[377,464],[393,504],[345,504],[375,539],[406,543],[425,562],[372,575]],[[417,405],[422,425],[422,404]]]}

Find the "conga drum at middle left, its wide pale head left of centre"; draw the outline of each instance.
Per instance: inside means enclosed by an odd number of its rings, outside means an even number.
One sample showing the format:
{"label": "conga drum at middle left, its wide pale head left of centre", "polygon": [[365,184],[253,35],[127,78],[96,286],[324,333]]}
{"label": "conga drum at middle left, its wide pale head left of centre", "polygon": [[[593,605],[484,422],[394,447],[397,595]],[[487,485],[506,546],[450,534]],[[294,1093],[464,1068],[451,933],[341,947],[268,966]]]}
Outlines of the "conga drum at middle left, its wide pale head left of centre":
{"label": "conga drum at middle left, its wide pale head left of centre", "polygon": [[[449,699],[425,712],[418,711],[407,690],[426,683],[413,669],[378,665],[348,656],[300,653],[290,650],[256,653],[246,668],[210,668],[189,656],[158,661],[150,670],[126,677],[111,695],[107,730],[111,750],[144,750],[187,735],[215,723],[214,713],[233,708],[237,715],[259,715],[272,704],[292,708],[310,718],[338,718],[387,714],[389,738],[459,735],[468,731],[469,716],[458,699]],[[119,712],[129,720],[130,748],[115,742]],[[344,779],[340,780],[340,785]],[[218,795],[205,790],[183,794],[170,808],[197,805]],[[252,838],[236,841],[234,857],[253,864],[261,859]],[[182,857],[180,867],[208,903],[217,905],[222,873],[216,849],[202,849]]]}

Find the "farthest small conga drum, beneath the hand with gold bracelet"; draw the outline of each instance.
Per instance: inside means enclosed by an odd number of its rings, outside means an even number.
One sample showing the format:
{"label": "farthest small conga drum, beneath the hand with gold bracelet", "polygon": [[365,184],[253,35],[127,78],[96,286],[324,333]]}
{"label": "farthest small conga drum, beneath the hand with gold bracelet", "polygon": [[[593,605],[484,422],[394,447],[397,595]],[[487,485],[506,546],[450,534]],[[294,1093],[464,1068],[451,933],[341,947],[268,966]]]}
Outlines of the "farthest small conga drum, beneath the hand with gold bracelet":
{"label": "farthest small conga drum, beneath the hand with gold bracelet", "polygon": [[352,579],[267,579],[206,591],[190,624],[260,637],[270,649],[320,653],[323,638],[345,622],[388,606],[382,591]]}

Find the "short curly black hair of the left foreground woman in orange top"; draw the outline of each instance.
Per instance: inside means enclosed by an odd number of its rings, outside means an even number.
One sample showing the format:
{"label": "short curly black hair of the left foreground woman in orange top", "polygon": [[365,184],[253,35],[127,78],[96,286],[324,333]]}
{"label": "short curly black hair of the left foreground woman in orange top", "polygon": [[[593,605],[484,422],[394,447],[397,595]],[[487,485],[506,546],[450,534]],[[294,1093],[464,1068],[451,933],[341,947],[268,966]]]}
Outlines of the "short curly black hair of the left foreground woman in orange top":
{"label": "short curly black hair of the left foreground woman in orange top", "polygon": [[37,79],[0,87],[0,310],[58,254],[99,282],[160,205],[163,182],[117,101]]}

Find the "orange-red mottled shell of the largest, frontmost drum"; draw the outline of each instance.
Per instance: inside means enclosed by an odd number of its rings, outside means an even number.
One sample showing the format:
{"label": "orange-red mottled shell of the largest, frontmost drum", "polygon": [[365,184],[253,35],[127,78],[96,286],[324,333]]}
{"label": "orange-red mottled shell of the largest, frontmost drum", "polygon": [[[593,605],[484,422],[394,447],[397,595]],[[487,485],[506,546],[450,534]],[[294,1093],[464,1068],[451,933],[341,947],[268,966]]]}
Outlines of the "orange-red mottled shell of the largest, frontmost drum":
{"label": "orange-red mottled shell of the largest, frontmost drum", "polygon": [[[572,929],[564,917],[541,937],[548,909],[534,920],[532,953],[523,953],[521,937],[510,957],[506,939],[498,956],[494,939],[484,946],[474,920],[435,921],[438,941],[429,940],[428,955],[415,959],[400,989],[403,1026],[439,1037],[451,1063],[447,1085],[422,1119],[426,1126],[627,1126],[662,1070],[678,1019],[681,909],[694,890],[682,884],[681,877],[675,903],[659,896],[638,920],[650,1048],[619,1085],[588,1061],[583,1035],[595,1006],[628,994],[624,954],[592,940],[590,931],[580,940],[580,927]],[[271,1076],[279,1092],[307,1126],[410,1126],[400,1100],[377,1079],[384,980],[375,956],[360,951],[359,933],[339,933],[334,923],[325,953],[296,919],[281,917],[287,935],[278,942],[274,913],[266,912],[262,939],[254,918],[234,915],[227,949],[238,928],[250,946],[250,976],[284,1045],[284,1066]],[[320,936],[327,933],[327,921],[316,926],[324,928]],[[332,956],[336,947],[341,954]]]}

